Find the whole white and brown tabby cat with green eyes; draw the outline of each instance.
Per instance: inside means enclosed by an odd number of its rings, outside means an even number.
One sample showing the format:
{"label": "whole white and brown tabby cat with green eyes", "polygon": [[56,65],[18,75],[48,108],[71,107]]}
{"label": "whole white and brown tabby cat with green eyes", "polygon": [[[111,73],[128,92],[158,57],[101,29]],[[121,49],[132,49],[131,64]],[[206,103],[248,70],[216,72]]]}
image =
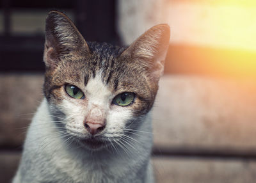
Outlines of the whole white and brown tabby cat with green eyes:
{"label": "whole white and brown tabby cat with green eyes", "polygon": [[159,24],[129,47],[86,42],[65,14],[49,12],[45,97],[13,183],[154,182],[150,111],[169,38]]}

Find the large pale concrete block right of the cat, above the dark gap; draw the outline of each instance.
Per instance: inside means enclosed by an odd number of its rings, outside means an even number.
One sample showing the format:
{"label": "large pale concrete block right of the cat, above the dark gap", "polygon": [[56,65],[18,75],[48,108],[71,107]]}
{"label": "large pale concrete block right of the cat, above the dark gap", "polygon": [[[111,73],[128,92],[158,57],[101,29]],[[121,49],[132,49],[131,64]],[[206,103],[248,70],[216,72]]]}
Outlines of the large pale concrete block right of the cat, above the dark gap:
{"label": "large pale concrete block right of the cat, above the dark gap", "polygon": [[159,147],[256,152],[255,81],[164,76],[153,122]]}

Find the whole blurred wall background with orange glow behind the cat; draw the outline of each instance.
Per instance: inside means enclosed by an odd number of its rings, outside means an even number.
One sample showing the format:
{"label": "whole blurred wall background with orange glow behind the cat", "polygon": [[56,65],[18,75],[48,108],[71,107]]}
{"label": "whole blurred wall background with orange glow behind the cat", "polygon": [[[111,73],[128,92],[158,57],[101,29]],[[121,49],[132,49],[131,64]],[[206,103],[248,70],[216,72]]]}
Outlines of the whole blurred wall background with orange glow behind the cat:
{"label": "whole blurred wall background with orange glow behind the cat", "polygon": [[167,23],[170,47],[153,110],[157,182],[255,182],[256,2],[0,1],[0,182],[10,182],[44,82],[50,10],[88,41],[131,44]]}

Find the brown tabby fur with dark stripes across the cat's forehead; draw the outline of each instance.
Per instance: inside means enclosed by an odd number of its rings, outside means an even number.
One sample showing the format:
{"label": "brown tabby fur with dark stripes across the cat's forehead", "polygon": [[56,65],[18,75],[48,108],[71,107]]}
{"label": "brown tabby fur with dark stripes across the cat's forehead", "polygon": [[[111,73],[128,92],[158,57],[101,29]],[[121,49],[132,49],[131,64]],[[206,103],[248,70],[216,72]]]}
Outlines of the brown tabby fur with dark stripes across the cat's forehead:
{"label": "brown tabby fur with dark stripes across the cat's forehead", "polygon": [[125,48],[95,42],[88,42],[88,46],[91,54],[63,56],[54,74],[45,74],[44,91],[49,96],[47,99],[60,102],[63,94],[61,88],[56,86],[65,83],[83,83],[86,86],[95,74],[100,73],[102,83],[113,92],[134,92],[138,95],[140,102],[134,104],[134,115],[147,113],[154,102],[157,83],[150,82],[139,65],[129,58],[120,57]]}

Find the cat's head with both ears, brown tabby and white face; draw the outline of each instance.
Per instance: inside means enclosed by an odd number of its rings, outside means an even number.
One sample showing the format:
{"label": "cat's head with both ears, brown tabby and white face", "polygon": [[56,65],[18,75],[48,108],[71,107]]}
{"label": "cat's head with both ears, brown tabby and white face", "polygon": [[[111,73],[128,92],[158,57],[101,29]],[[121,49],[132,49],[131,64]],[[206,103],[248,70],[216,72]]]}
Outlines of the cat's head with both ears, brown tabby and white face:
{"label": "cat's head with both ears, brown tabby and white face", "polygon": [[154,103],[169,37],[161,24],[127,48],[90,43],[63,13],[50,12],[44,94],[56,125],[90,149],[136,132]]}

